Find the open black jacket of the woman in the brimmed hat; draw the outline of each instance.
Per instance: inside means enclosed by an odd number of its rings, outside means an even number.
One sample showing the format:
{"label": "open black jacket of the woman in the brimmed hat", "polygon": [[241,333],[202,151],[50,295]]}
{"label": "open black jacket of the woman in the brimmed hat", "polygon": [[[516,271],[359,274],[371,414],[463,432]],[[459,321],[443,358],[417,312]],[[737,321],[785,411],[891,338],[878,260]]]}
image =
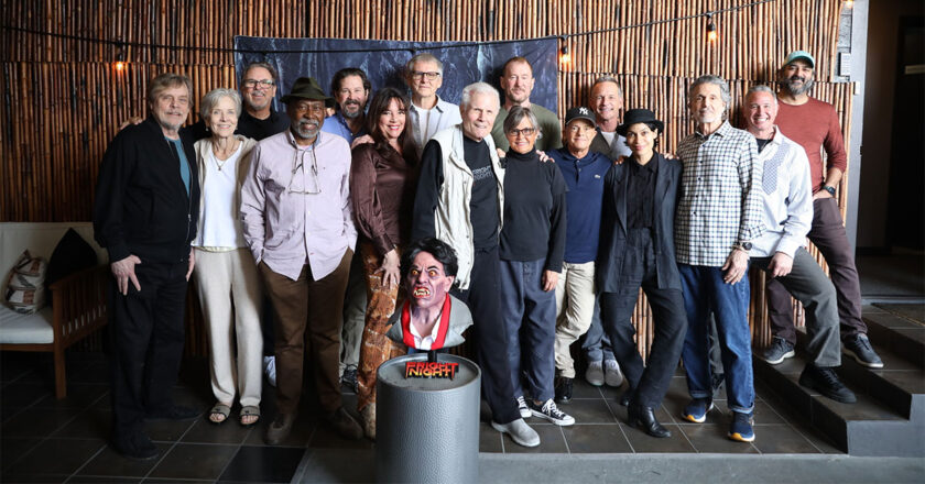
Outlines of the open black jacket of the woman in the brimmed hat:
{"label": "open black jacket of the woman in the brimmed hat", "polygon": [[[674,216],[682,166],[677,160],[666,160],[660,153],[654,156],[659,157],[653,213],[659,288],[681,289],[681,276],[675,262]],[[611,166],[603,179],[600,245],[595,270],[600,293],[620,290],[623,255],[627,252],[627,163]]]}

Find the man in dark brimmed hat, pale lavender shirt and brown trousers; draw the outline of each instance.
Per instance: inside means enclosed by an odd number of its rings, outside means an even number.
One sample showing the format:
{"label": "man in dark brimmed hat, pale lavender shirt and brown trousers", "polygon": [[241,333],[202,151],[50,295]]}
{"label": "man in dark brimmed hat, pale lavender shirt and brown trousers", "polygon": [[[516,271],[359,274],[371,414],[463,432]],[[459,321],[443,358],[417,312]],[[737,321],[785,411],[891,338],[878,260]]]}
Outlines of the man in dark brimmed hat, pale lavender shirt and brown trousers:
{"label": "man in dark brimmed hat, pale lavender shirt and brown trousers", "polygon": [[244,240],[276,310],[278,415],[265,441],[291,432],[302,396],[306,342],[323,416],[341,436],[362,429],[344,409],[338,380],[344,294],[357,241],[350,209],[350,146],[323,133],[334,99],[301,77],[284,96],[290,129],[253,148],[241,189]]}

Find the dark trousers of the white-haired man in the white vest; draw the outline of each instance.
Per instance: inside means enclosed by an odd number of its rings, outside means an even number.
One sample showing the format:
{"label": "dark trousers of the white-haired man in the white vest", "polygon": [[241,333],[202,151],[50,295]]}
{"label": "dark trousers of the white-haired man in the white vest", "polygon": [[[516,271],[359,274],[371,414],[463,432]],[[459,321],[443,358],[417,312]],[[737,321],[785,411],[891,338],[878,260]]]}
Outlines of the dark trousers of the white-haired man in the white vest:
{"label": "dark trousers of the white-haired man in the white vest", "polygon": [[[469,288],[453,289],[451,294],[466,302],[472,312],[472,334],[482,371],[482,397],[488,400],[492,419],[498,424],[509,424],[521,416],[514,402],[508,337],[501,321],[499,264],[497,245],[476,249]],[[549,354],[549,358],[553,355]]]}

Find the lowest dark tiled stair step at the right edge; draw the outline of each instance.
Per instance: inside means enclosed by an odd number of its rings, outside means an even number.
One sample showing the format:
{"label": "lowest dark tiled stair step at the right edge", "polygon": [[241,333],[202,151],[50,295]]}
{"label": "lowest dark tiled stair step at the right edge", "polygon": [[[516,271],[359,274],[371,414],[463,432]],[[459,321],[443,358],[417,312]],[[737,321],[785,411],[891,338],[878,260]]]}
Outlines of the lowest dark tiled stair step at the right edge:
{"label": "lowest dark tiled stair step at the right edge", "polygon": [[845,378],[844,371],[839,372],[842,383],[855,392],[858,403],[840,404],[826,398],[799,385],[799,374],[806,366],[804,354],[799,351],[779,365],[755,356],[755,377],[851,455],[925,457],[925,413],[919,411],[921,402],[910,406],[914,410],[910,419]]}

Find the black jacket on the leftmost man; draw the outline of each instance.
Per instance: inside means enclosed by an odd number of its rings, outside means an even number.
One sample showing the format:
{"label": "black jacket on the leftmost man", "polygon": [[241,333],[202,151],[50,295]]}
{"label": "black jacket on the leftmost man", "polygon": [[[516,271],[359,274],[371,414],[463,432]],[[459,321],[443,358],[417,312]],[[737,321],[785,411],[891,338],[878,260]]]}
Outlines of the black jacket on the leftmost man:
{"label": "black jacket on the leftmost man", "polygon": [[102,156],[94,204],[94,238],[116,262],[175,263],[189,256],[199,217],[199,176],[193,140],[181,134],[189,164],[189,194],[179,156],[149,117],[120,131]]}

